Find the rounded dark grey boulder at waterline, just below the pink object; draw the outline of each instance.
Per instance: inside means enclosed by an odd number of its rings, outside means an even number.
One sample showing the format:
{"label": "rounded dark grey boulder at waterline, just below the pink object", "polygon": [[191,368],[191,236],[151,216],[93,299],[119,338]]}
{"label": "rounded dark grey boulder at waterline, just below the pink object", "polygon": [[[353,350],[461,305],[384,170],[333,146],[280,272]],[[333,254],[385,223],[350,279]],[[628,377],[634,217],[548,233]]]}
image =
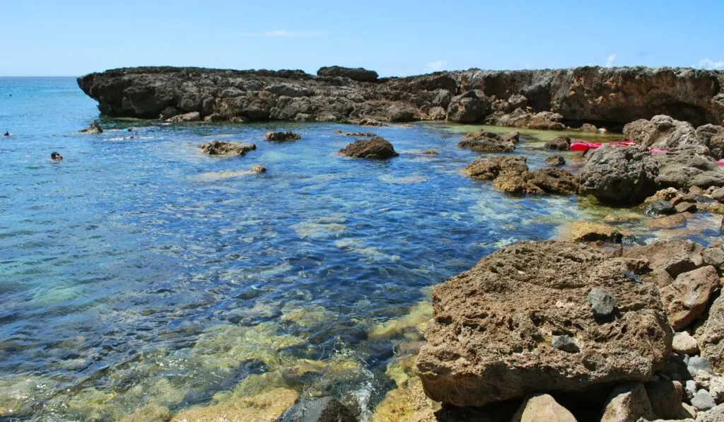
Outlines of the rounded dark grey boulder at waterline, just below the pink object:
{"label": "rounded dark grey boulder at waterline, just below the pink object", "polygon": [[589,153],[578,179],[580,193],[606,203],[639,203],[657,190],[658,167],[649,151],[602,145]]}

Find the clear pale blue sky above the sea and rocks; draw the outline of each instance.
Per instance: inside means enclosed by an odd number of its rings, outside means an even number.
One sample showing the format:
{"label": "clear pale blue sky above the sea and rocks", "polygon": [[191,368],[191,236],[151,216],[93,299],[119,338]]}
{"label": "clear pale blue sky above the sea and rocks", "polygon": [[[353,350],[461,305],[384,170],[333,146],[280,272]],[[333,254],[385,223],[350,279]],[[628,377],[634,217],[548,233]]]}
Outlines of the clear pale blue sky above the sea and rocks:
{"label": "clear pale blue sky above the sea and rocks", "polygon": [[0,76],[170,65],[380,76],[724,69],[724,0],[0,0]]}

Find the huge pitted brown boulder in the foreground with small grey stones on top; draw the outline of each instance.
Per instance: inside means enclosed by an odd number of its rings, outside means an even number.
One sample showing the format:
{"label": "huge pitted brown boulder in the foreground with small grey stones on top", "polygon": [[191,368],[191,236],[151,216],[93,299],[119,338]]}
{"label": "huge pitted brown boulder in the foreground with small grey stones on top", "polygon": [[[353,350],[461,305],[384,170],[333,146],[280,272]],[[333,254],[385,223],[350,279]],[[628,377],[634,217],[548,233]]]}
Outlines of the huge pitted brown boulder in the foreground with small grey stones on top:
{"label": "huge pitted brown boulder in the foreground with small grey stones on top", "polygon": [[[631,278],[644,271],[646,261],[572,242],[497,250],[434,289],[418,356],[426,393],[465,407],[649,381],[672,333],[656,287]],[[615,297],[610,316],[594,316],[594,287]]]}

